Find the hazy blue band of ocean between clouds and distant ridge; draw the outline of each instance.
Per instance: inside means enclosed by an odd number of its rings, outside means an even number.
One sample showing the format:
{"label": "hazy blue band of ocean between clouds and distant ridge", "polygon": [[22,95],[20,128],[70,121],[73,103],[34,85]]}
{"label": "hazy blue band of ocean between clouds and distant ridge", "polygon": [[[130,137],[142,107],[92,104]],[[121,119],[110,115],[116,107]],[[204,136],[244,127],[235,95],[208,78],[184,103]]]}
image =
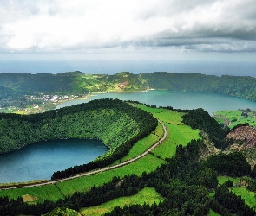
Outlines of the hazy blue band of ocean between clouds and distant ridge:
{"label": "hazy blue band of ocean between clouds and distant ridge", "polygon": [[0,60],[0,73],[63,73],[82,71],[87,74],[130,73],[203,73],[207,75],[256,76],[256,62],[211,61],[139,61],[139,60]]}

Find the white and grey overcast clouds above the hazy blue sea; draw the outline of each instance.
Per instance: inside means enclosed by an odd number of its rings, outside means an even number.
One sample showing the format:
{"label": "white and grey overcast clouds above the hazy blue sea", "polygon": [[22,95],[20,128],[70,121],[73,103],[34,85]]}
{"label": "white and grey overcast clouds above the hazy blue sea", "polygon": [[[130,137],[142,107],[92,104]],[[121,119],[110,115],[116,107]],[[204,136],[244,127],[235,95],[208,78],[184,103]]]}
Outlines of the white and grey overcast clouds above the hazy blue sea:
{"label": "white and grey overcast clouds above the hazy blue sea", "polygon": [[0,54],[255,54],[255,11],[255,0],[0,0]]}

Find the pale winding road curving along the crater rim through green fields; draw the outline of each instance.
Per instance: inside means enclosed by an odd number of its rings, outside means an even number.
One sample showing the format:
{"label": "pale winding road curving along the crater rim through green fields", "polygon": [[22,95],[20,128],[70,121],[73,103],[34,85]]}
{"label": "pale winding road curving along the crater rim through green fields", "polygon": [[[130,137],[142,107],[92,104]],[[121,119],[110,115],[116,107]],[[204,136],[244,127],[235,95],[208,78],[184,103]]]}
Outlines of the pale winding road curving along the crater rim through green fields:
{"label": "pale winding road curving along the crater rim through green fields", "polygon": [[165,125],[161,123],[161,121],[159,119],[157,119],[157,120],[161,124],[161,126],[162,126],[162,128],[164,130],[164,134],[161,137],[161,139],[158,142],[154,143],[153,146],[151,146],[149,149],[144,151],[141,155],[135,156],[134,158],[132,158],[132,159],[130,159],[128,161],[121,162],[121,163],[118,163],[116,165],[113,165],[113,166],[110,166],[110,167],[107,167],[107,168],[100,168],[100,169],[96,169],[94,171],[89,171],[87,173],[82,173],[82,174],[79,174],[79,175],[70,176],[70,177],[65,178],[65,179],[60,179],[60,180],[55,180],[55,181],[47,181],[47,182],[43,182],[43,183],[21,185],[21,186],[4,187],[4,188],[0,188],[0,190],[10,190],[10,189],[24,188],[24,187],[39,187],[39,186],[44,186],[44,185],[56,184],[57,182],[69,181],[69,180],[72,180],[72,179],[75,179],[75,178],[79,178],[79,177],[82,177],[82,176],[93,175],[93,174],[101,173],[101,172],[104,172],[104,171],[107,171],[107,170],[110,170],[110,169],[120,168],[120,167],[122,167],[124,165],[127,165],[127,164],[131,163],[131,162],[135,162],[135,161],[139,160],[141,157],[146,156],[150,151],[155,149],[158,145],[160,145],[166,139],[166,137],[167,137],[167,129],[166,129]]}

